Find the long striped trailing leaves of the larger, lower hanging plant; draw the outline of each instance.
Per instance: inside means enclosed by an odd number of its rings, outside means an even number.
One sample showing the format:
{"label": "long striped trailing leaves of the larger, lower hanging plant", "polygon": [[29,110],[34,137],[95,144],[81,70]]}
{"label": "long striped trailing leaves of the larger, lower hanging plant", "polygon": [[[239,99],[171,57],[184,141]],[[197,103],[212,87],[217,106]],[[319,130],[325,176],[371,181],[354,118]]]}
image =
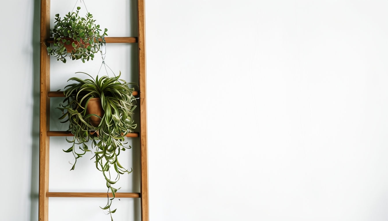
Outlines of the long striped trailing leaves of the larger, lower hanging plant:
{"label": "long striped trailing leaves of the larger, lower hanging plant", "polygon": [[[120,80],[120,75],[110,78],[107,76],[99,78],[97,75],[95,79],[89,75],[91,79],[85,80],[78,77],[70,78],[69,81],[77,83],[65,87],[64,105],[57,107],[63,112],[59,119],[64,120],[62,123],[69,122],[68,131],[74,134],[72,140],[66,138],[71,143],[71,147],[64,150],[64,152],[73,152],[75,157],[71,170],[74,170],[78,158],[86,152],[94,152],[92,159],[95,160],[95,166],[97,170],[102,171],[108,192],[113,194],[113,198],[108,198],[107,205],[101,207],[107,209],[109,214],[116,211],[110,210],[118,190],[112,185],[120,179],[121,174],[132,172],[132,169],[128,171],[119,163],[118,156],[120,151],[131,148],[126,145],[127,143],[123,143],[124,136],[133,132],[136,127],[133,121],[133,110],[136,108],[135,97],[132,95],[134,89],[129,87],[133,83]],[[105,111],[102,117],[87,113],[86,106],[91,98],[101,99],[102,108]],[[97,127],[90,123],[91,116],[101,118]]]}

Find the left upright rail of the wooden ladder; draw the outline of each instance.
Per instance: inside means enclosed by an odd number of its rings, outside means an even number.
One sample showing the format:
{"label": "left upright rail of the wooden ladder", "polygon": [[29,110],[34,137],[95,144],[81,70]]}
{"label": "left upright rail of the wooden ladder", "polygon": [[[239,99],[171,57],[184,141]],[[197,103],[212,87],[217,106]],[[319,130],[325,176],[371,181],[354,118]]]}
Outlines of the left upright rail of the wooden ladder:
{"label": "left upright rail of the wooden ladder", "polygon": [[50,57],[47,55],[44,40],[50,33],[50,0],[40,2],[40,122],[39,122],[39,221],[49,220],[49,145],[47,136],[49,125],[50,100],[47,92],[50,88]]}

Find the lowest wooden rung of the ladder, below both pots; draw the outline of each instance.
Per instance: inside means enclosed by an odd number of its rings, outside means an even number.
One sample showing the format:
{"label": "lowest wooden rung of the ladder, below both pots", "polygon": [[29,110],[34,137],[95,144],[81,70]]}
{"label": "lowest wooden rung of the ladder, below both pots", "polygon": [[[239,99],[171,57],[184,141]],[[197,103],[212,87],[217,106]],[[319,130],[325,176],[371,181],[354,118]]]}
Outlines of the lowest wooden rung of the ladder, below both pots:
{"label": "lowest wooden rung of the ladder, below both pots", "polygon": [[[112,193],[46,192],[46,197],[113,197]],[[115,193],[117,198],[140,198],[140,193]]]}

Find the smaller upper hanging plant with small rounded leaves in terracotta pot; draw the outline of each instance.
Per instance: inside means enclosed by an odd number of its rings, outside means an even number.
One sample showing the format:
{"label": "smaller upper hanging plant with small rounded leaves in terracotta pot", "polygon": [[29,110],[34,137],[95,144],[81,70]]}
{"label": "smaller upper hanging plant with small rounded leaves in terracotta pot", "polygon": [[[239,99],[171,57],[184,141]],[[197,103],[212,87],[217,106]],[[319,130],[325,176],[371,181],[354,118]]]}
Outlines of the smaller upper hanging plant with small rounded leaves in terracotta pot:
{"label": "smaller upper hanging plant with small rounded leaves in terracotta pot", "polygon": [[[102,45],[106,44],[104,36],[107,36],[108,29],[100,34],[102,30],[100,25],[95,24],[93,15],[88,13],[80,17],[78,10],[69,12],[63,19],[56,14],[54,28],[50,30],[50,35],[54,35],[54,47],[48,46],[47,51],[63,63],[66,63],[67,53],[70,53],[72,60],[81,59],[83,63],[85,60],[93,60],[94,53],[101,52]],[[68,51],[67,45],[73,46],[73,50]]]}

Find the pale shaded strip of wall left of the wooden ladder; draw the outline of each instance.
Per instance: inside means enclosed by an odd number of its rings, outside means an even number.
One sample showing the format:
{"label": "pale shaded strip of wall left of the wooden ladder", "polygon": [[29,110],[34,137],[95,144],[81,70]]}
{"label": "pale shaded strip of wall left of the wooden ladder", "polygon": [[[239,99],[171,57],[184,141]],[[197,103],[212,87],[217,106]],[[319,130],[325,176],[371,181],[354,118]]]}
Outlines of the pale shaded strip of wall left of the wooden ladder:
{"label": "pale shaded strip of wall left of the wooden ladder", "polygon": [[37,220],[38,214],[39,15],[34,10],[39,8],[36,6],[34,1],[16,0],[3,2],[0,7],[2,221]]}

